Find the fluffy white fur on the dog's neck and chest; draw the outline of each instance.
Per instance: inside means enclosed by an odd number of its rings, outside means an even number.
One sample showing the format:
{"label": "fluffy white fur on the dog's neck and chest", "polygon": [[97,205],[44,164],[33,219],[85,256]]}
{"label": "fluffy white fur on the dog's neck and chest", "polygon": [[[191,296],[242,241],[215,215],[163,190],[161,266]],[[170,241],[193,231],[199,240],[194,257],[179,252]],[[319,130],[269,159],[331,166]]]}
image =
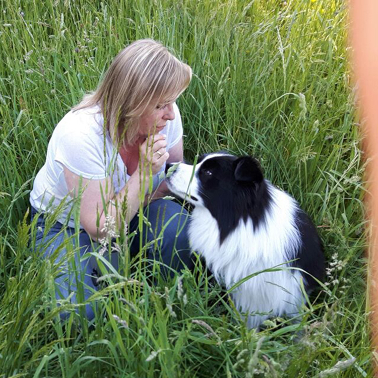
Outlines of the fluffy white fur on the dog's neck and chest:
{"label": "fluffy white fur on the dog's neck and chest", "polygon": [[[216,220],[204,207],[193,210],[189,226],[192,248],[200,253],[215,278],[227,289],[243,278],[295,259],[300,245],[295,226],[296,202],[266,181],[272,195],[266,222],[254,231],[251,219],[241,219],[236,229],[220,245]],[[194,194],[195,195],[195,194]],[[285,269],[285,266],[280,268]],[[273,311],[277,316],[298,312],[302,302],[301,273],[282,270],[261,273],[237,287],[232,297],[237,308],[246,313]],[[257,327],[269,314],[250,314],[248,326]]]}

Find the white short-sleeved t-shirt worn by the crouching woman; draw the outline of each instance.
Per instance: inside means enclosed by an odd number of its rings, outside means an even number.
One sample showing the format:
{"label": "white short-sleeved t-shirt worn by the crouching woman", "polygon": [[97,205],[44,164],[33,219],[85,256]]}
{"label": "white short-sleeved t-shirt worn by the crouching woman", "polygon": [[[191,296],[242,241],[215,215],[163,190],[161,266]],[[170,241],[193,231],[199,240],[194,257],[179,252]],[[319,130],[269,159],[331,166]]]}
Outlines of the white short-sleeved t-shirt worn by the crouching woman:
{"label": "white short-sleeved t-shirt worn by the crouching woman", "polygon": [[[175,118],[160,132],[167,136],[167,151],[182,138],[181,116],[173,104]],[[130,178],[110,135],[104,133],[99,106],[69,111],[56,125],[47,147],[46,162],[35,177],[30,203],[36,210],[51,212],[62,206],[58,221],[74,227],[73,200],[68,194],[63,165],[71,172],[92,180],[112,176],[114,193]],[[153,188],[162,180],[165,164],[153,177]],[[82,226],[81,226],[82,227]]]}

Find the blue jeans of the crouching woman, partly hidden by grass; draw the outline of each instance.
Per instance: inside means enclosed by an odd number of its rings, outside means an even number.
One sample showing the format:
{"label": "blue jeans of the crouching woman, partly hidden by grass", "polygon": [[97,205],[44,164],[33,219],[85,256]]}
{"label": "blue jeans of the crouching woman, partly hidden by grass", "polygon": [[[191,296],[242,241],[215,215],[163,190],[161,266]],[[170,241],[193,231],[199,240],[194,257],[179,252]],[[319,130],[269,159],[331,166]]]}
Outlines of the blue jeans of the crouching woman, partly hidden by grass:
{"label": "blue jeans of the crouching woman, partly hidden by grass", "polygon": [[[32,219],[36,214],[37,211],[32,207]],[[147,259],[161,262],[160,272],[165,277],[174,275],[172,269],[178,272],[185,266],[193,269],[194,262],[191,258],[191,249],[187,238],[188,214],[186,210],[173,201],[157,200],[145,208],[144,214],[152,229],[143,224],[141,235],[138,231],[138,215],[132,219],[129,233],[133,231],[137,231],[137,233],[129,244],[131,256],[135,256],[139,252],[141,237],[142,244],[146,245],[145,243],[155,240],[165,227],[162,233],[163,237],[148,248]],[[75,250],[79,251],[79,253],[75,253],[74,267],[69,267],[69,263],[65,262],[62,264],[61,272],[55,278],[56,299],[66,299],[72,294],[71,303],[87,300],[98,288],[97,276],[94,274],[96,265],[93,264],[93,259],[82,259],[84,254],[92,252],[94,249],[94,242],[91,241],[90,236],[84,230],[80,230],[80,234],[75,235],[74,228],[64,227],[59,222],[56,222],[44,235],[45,219],[43,214],[40,214],[36,226],[35,247],[44,247],[44,257],[55,254],[54,262],[60,265],[67,254],[65,242],[68,237],[72,240]],[[80,280],[83,285],[78,286],[77,280]],[[79,288],[82,288],[80,293],[78,292]],[[60,313],[62,319],[66,319],[68,316],[68,312]],[[94,307],[91,303],[86,305],[86,317],[88,320],[95,317]]]}

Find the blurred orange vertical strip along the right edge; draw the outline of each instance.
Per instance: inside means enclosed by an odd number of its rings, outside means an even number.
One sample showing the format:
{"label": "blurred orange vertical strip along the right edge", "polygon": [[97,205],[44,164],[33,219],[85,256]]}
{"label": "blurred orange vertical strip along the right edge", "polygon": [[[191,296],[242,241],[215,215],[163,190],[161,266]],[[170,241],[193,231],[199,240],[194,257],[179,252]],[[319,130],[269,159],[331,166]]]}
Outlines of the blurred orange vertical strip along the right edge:
{"label": "blurred orange vertical strip along the right edge", "polygon": [[369,219],[369,275],[371,346],[374,376],[378,377],[378,0],[350,0],[350,36],[357,84],[361,131],[364,136]]}

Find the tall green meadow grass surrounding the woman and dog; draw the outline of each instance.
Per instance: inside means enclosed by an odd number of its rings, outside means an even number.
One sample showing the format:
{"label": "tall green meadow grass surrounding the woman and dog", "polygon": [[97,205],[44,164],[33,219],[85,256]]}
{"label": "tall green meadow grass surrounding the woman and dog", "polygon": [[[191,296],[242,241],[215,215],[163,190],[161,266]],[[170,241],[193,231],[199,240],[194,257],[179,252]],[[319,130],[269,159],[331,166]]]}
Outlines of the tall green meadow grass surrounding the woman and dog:
{"label": "tall green meadow grass surrounding the woman and dog", "polygon": [[[0,377],[372,376],[347,2],[0,4]],[[29,246],[33,179],[56,123],[139,38],[160,40],[193,69],[177,100],[185,159],[256,156],[318,226],[327,275],[301,322],[248,330],[200,265],[151,285],[140,262],[131,269],[127,245],[123,270],[90,299],[100,309],[93,325],[83,306],[57,306],[59,268]],[[72,311],[66,324],[62,309]]]}

